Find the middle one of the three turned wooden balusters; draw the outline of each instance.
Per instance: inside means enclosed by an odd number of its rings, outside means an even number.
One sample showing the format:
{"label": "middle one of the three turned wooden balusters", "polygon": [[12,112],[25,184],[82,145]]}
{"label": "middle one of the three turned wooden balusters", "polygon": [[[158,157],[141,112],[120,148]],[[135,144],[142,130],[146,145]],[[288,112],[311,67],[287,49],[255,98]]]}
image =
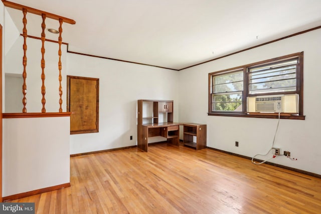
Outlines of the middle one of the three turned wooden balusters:
{"label": "middle one of the three turned wooden balusters", "polygon": [[45,104],[46,104],[46,99],[45,99],[45,94],[46,94],[46,87],[45,87],[45,79],[46,79],[46,75],[45,75],[45,40],[46,40],[45,29],[46,29],[46,24],[45,24],[45,20],[46,20],[46,14],[42,14],[42,24],[41,24],[41,28],[42,28],[42,33],[41,33],[41,42],[42,42],[42,47],[41,47],[41,55],[42,55],[42,59],[41,59],[41,69],[42,69],[41,94],[42,94],[42,99],[41,99],[41,103],[42,103],[42,109],[41,109],[41,112],[42,113],[46,112],[46,108],[45,108]]}

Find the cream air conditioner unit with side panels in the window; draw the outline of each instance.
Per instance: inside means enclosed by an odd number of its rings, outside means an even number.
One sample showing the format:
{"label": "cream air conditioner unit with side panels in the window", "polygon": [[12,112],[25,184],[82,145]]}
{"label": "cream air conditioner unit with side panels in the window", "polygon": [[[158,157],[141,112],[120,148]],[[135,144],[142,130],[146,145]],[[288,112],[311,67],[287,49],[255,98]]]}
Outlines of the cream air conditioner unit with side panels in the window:
{"label": "cream air conditioner unit with side panels in the window", "polygon": [[298,113],[298,94],[247,97],[247,112]]}

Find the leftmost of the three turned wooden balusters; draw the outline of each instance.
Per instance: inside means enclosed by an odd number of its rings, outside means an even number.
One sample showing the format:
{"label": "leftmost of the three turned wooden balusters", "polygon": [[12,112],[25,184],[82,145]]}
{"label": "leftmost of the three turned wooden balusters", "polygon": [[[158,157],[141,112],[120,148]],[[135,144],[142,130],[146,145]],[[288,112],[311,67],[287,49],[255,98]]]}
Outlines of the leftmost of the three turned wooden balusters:
{"label": "leftmost of the three turned wooden balusters", "polygon": [[24,18],[22,19],[22,22],[24,23],[24,29],[23,29],[23,37],[24,37],[24,45],[23,45],[23,49],[24,49],[24,57],[23,57],[23,62],[22,64],[24,65],[24,72],[22,73],[22,76],[24,78],[24,84],[22,86],[22,93],[24,94],[24,98],[22,99],[22,103],[24,105],[24,108],[22,109],[23,113],[27,113],[27,108],[26,108],[26,104],[27,104],[27,98],[26,98],[26,94],[27,94],[27,84],[26,84],[26,79],[27,79],[27,72],[26,72],[26,67],[27,67],[27,10],[23,9],[22,10],[23,14],[24,14]]}

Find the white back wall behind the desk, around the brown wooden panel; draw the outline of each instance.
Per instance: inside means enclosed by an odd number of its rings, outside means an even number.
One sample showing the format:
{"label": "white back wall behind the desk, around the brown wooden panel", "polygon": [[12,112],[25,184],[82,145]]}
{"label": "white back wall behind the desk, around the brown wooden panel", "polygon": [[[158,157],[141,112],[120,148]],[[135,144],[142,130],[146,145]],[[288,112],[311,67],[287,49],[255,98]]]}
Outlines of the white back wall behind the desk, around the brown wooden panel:
{"label": "white back wall behind the desk, around the brown wooden panel", "polygon": [[136,145],[138,99],[174,100],[178,121],[177,71],[77,54],[67,62],[67,75],[99,78],[99,132],[71,135],[71,154]]}

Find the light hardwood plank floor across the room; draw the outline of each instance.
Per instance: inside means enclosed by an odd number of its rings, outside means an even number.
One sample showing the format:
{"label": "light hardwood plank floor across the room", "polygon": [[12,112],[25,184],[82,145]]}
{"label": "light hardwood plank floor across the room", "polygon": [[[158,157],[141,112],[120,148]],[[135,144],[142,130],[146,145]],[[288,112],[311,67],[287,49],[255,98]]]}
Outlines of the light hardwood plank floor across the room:
{"label": "light hardwood plank floor across the room", "polygon": [[[290,161],[290,160],[289,160]],[[321,179],[211,149],[156,144],[71,158],[36,213],[320,213]]]}

